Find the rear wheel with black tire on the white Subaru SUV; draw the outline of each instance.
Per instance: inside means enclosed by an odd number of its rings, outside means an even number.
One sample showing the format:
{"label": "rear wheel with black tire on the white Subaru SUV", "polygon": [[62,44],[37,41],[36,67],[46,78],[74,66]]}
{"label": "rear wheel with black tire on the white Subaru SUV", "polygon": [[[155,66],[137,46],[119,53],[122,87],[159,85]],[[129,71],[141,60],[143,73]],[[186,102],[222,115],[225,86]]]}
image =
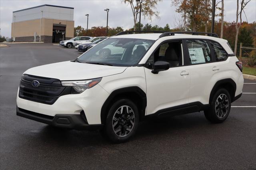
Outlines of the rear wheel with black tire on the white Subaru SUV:
{"label": "rear wheel with black tire on the white Subaru SUV", "polygon": [[204,111],[204,116],[211,123],[222,123],[227,119],[230,108],[230,94],[226,89],[219,89],[212,97],[210,108]]}

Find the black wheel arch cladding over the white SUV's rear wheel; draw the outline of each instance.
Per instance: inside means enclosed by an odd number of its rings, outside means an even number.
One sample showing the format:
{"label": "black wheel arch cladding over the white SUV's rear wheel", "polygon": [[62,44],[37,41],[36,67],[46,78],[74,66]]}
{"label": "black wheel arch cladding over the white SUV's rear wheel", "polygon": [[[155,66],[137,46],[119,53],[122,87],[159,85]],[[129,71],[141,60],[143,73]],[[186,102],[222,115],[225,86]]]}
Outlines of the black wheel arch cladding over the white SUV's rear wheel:
{"label": "black wheel arch cladding over the white SUV's rear wheel", "polygon": [[217,81],[213,86],[212,91],[210,93],[209,104],[212,101],[212,97],[214,93],[220,88],[226,89],[230,94],[231,102],[234,101],[235,93],[236,93],[236,83],[232,79],[222,79]]}

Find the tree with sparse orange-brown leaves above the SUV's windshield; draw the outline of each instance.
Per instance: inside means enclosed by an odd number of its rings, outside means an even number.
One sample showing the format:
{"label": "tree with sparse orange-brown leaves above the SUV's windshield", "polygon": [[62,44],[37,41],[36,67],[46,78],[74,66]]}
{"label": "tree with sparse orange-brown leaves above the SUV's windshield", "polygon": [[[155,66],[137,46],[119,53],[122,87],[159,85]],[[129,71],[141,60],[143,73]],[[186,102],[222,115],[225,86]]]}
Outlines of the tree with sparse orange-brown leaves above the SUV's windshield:
{"label": "tree with sparse orange-brown leaves above the SUV's windshield", "polygon": [[[156,9],[157,3],[160,1],[162,0],[141,0],[141,15],[147,17],[149,20],[152,20],[153,16],[155,16],[156,18],[160,18],[159,12],[154,11],[154,9]],[[134,31],[136,31],[136,23],[138,16],[140,15],[140,2],[136,0],[123,0],[123,2],[125,4],[130,4],[132,8]]]}

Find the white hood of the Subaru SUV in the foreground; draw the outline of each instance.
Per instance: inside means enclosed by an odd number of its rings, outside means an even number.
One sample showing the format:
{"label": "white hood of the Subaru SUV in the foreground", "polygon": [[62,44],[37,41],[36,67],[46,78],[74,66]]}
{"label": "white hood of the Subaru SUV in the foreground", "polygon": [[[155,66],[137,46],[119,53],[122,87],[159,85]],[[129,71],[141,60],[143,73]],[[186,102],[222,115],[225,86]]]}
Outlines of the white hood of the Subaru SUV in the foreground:
{"label": "white hood of the Subaru SUV in the foreground", "polygon": [[24,74],[59,80],[85,80],[119,74],[126,68],[64,61],[33,67],[25,71]]}

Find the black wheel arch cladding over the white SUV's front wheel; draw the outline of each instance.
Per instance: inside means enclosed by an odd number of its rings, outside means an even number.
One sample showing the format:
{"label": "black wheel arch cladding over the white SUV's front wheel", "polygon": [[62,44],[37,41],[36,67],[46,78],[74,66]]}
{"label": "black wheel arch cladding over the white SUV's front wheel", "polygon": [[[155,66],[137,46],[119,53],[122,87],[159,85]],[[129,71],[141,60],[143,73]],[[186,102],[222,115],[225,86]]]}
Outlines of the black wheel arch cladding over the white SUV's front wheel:
{"label": "black wheel arch cladding over the white SUV's front wheel", "polygon": [[114,90],[102,105],[100,112],[100,120],[102,124],[104,124],[106,121],[111,104],[121,98],[130,99],[132,102],[134,102],[134,104],[138,107],[140,120],[144,119],[147,105],[146,93],[137,86],[124,87]]}

